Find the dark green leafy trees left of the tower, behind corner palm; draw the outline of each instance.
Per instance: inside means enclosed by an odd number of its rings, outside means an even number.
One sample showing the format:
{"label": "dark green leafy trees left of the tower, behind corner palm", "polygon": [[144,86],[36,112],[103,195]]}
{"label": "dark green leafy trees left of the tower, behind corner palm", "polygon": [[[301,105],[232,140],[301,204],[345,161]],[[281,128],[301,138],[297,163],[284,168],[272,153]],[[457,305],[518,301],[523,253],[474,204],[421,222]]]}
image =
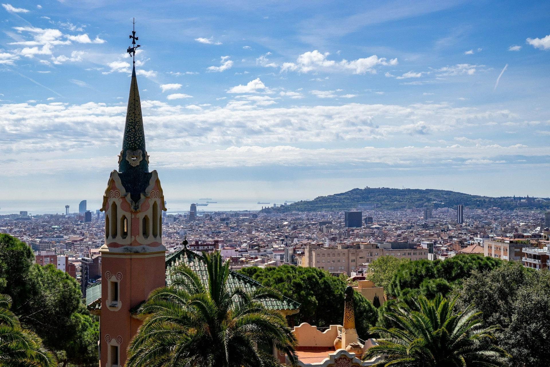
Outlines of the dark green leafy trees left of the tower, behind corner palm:
{"label": "dark green leafy trees left of the tower, behind corner palm", "polygon": [[34,331],[61,363],[97,365],[98,322],[82,303],[80,286],[55,266],[32,264],[32,250],[0,234],[0,292],[14,300],[21,325]]}

